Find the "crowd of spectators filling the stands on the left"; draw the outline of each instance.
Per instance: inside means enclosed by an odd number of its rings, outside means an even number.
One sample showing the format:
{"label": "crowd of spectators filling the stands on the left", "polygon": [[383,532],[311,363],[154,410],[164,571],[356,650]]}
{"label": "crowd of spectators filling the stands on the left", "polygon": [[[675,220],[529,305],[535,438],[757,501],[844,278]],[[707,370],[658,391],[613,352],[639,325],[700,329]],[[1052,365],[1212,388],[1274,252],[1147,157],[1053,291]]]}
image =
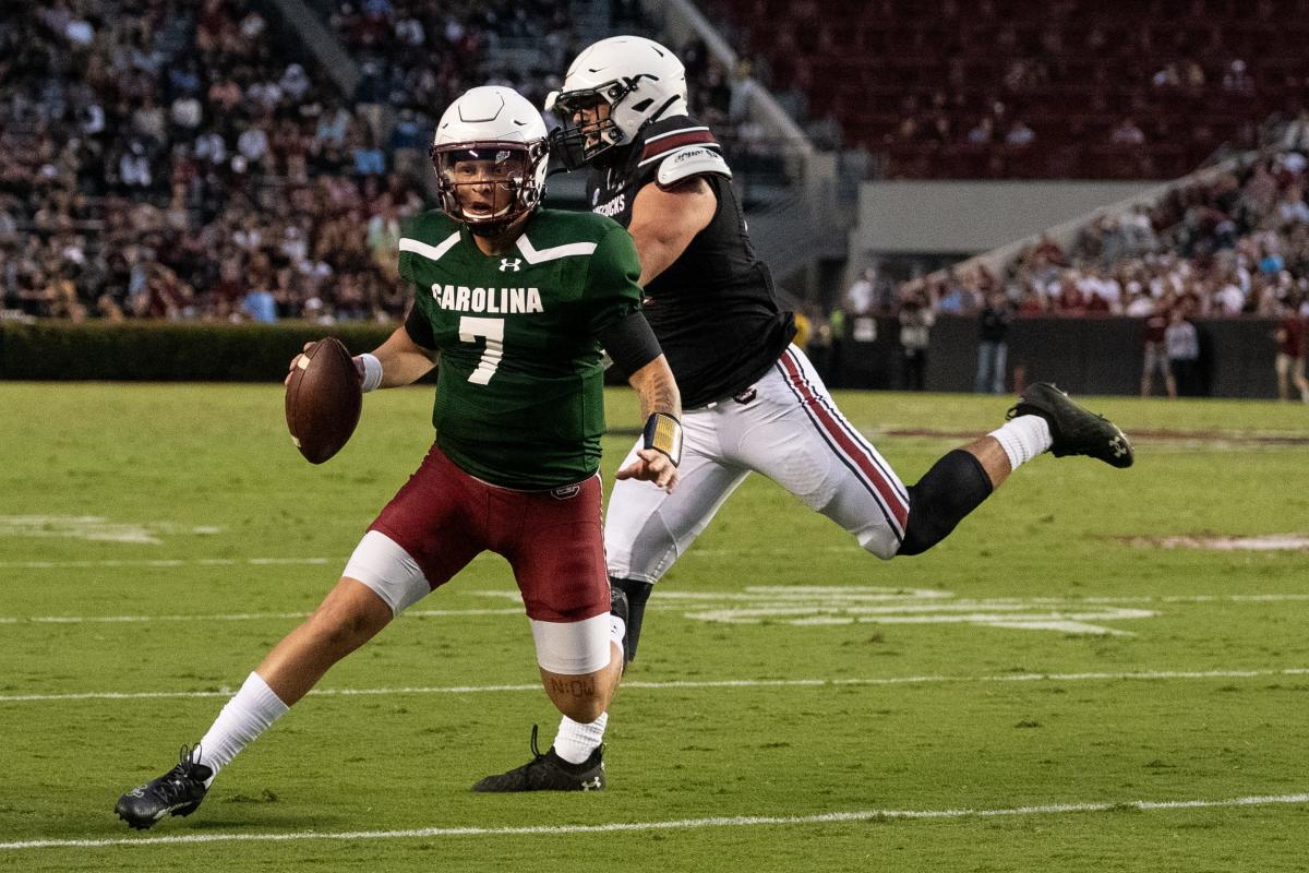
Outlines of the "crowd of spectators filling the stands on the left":
{"label": "crowd of spectators filling the stands on the left", "polygon": [[[5,4],[0,313],[399,318],[395,247],[424,204],[436,115],[487,82],[542,105],[580,48],[562,0],[342,1],[327,24],[361,73],[343,94],[260,9]],[[634,3],[614,14],[647,26]],[[695,111],[746,169],[758,131],[732,122],[747,68],[728,75],[699,43],[685,60]]]}

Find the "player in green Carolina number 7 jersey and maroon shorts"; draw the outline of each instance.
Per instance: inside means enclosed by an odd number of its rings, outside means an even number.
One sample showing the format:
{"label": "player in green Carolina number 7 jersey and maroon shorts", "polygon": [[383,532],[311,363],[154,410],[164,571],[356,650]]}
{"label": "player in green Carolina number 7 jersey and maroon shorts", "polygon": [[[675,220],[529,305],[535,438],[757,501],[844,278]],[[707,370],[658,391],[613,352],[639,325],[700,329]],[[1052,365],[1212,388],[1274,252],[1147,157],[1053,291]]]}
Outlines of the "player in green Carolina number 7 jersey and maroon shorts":
{"label": "player in green Carolina number 7 jersey and maroon shorts", "polygon": [[[546,160],[545,122],[511,89],[474,88],[441,116],[432,161],[442,209],[415,219],[399,246],[414,306],[356,359],[364,390],[439,368],[435,444],[318,610],[177,767],[119,798],[132,827],[194,811],[219,770],[332,664],[487,550],[513,568],[551,702],[580,722],[605,713],[626,609],[601,534],[603,352],[631,374],[647,420],[645,448],[618,478],[677,486],[681,399],[640,312],[631,237],[602,216],[539,208]],[[559,763],[571,781],[603,787],[598,755]]]}

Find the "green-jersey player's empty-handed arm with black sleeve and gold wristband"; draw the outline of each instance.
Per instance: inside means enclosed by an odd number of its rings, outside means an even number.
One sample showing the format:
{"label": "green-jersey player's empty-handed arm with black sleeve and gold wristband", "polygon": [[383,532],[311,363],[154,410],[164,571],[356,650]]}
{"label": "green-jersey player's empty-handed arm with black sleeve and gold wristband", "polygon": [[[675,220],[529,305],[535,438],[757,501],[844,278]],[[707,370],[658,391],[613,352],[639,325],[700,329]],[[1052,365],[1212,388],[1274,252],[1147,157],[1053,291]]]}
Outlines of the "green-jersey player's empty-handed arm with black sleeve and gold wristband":
{"label": "green-jersey player's empty-handed arm with black sleeve and gold wristband", "polygon": [[619,470],[617,478],[653,482],[672,493],[681,479],[677,465],[682,459],[682,394],[668,359],[639,310],[606,327],[600,342],[614,364],[630,373],[627,381],[641,399],[645,421],[644,445],[637,449],[636,461]]}

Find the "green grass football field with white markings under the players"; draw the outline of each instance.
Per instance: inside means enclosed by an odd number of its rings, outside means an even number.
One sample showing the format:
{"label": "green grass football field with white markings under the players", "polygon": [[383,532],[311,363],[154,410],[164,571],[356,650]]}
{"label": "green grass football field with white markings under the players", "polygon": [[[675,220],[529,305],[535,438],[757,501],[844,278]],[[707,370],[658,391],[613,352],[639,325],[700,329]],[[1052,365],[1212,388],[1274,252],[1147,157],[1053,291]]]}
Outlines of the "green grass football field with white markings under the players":
{"label": "green grass football field with white markings under the players", "polygon": [[[838,399],[907,482],[1007,406]],[[1237,402],[1092,401],[1136,467],[1038,458],[890,563],[749,480],[656,590],[603,793],[467,791],[556,722],[483,556],[128,831],[118,794],[334,584],[429,403],[369,395],[312,467],[279,386],[0,385],[0,869],[1305,869],[1309,410]]]}

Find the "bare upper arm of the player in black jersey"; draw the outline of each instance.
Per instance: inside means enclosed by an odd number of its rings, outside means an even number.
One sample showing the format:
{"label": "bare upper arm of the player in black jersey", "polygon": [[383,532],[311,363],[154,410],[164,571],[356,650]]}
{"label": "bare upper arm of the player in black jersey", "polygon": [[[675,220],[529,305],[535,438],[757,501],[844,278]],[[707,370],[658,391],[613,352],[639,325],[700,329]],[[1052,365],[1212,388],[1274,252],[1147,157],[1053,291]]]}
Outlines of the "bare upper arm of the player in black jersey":
{"label": "bare upper arm of the player in black jersey", "polygon": [[717,208],[713,188],[699,175],[669,187],[652,182],[637,191],[627,232],[641,259],[643,288],[682,257],[695,234],[713,221]]}

